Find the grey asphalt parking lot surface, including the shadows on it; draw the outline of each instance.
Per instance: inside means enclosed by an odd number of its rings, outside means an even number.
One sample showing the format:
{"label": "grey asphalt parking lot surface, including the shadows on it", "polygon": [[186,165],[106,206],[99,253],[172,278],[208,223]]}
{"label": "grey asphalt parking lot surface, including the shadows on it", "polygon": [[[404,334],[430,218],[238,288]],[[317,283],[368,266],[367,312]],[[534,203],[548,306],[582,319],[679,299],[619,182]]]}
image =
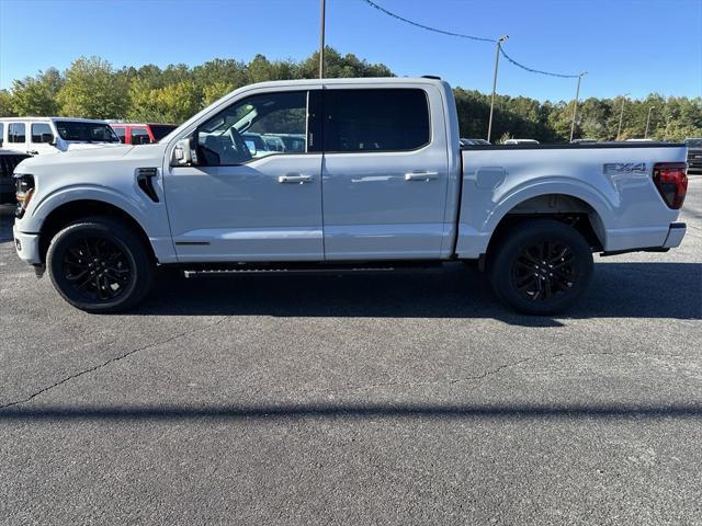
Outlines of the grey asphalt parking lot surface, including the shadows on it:
{"label": "grey asphalt parking lot surface, including the shadows on it", "polygon": [[463,265],[162,281],[75,310],[0,232],[0,524],[702,524],[702,178],[683,244],[565,316]]}

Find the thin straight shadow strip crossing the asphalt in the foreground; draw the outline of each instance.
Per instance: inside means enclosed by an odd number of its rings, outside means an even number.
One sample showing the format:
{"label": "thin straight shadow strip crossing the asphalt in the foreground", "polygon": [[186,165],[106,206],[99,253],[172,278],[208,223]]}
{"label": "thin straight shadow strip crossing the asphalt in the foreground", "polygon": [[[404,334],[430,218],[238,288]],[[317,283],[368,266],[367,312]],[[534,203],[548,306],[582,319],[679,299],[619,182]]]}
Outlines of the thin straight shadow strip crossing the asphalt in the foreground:
{"label": "thin straight shadow strip crossing the asphalt in the foreground", "polygon": [[374,403],[287,403],[244,405],[49,405],[0,409],[1,421],[283,421],[317,419],[645,419],[697,420],[702,418],[700,404],[374,404]]}

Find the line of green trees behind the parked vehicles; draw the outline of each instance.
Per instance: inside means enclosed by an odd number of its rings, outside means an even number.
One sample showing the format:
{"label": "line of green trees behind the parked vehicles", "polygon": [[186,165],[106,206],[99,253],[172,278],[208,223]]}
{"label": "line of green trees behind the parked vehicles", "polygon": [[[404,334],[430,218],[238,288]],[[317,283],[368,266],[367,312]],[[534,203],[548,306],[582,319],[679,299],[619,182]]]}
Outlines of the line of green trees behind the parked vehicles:
{"label": "line of green trees behind the parked vehicles", "polygon": [[[353,54],[332,48],[325,53],[327,77],[390,77],[383,64],[369,64]],[[230,91],[265,80],[310,79],[318,76],[318,54],[304,60],[269,60],[257,55],[248,64],[217,58],[200,66],[183,64],[159,68],[114,68],[100,57],[81,57],[65,71],[50,68],[34,77],[14,80],[0,90],[0,116],[64,115],[120,118],[137,122],[181,123]],[[484,138],[489,116],[489,95],[455,88],[461,136]],[[644,137],[650,112],[648,137],[682,140],[702,136],[702,98],[652,93],[644,100],[623,98],[580,101],[576,137],[616,139],[624,107],[621,139]],[[569,138],[574,101],[537,101],[526,96],[498,95],[492,139],[533,138],[561,142]]]}

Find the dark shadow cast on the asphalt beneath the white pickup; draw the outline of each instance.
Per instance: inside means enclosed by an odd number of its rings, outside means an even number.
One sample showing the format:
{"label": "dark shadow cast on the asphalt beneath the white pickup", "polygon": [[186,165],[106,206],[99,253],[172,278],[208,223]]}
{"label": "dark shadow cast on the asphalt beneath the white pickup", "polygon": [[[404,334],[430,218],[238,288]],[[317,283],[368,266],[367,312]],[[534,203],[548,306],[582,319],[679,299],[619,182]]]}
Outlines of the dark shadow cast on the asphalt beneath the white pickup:
{"label": "dark shadow cast on the asphalt beneath the white pickup", "polygon": [[587,318],[702,318],[702,264],[601,263],[588,294],[557,317],[513,313],[487,276],[462,264],[366,275],[260,275],[160,279],[145,316],[494,318],[561,327]]}

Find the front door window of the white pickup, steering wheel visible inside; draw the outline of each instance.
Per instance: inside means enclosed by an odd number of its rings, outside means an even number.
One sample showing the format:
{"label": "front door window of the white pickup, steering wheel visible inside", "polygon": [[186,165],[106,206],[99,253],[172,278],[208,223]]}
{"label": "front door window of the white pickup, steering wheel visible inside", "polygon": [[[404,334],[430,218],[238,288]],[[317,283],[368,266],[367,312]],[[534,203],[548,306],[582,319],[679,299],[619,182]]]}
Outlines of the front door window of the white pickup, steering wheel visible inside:
{"label": "front door window of the white pickup, steering wheel visible inside", "polygon": [[[254,157],[306,151],[307,92],[288,91],[253,95],[239,101],[197,128],[201,161],[208,165],[241,164]],[[260,137],[264,149],[247,147]],[[288,149],[282,137],[297,140]],[[256,139],[254,139],[256,140]],[[259,142],[260,144],[260,142]]]}

